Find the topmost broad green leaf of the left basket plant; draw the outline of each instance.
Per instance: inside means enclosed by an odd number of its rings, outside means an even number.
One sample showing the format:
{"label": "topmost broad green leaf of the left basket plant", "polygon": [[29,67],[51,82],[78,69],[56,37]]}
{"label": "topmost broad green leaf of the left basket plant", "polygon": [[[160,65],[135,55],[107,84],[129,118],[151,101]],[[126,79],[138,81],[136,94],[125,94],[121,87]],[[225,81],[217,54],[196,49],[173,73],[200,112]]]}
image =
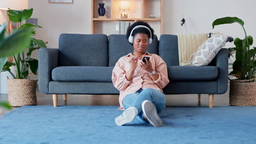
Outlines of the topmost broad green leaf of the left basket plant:
{"label": "topmost broad green leaf of the left basket plant", "polygon": [[33,14],[33,9],[24,9],[24,10],[8,10],[8,16],[12,22],[21,22],[27,19],[30,19]]}

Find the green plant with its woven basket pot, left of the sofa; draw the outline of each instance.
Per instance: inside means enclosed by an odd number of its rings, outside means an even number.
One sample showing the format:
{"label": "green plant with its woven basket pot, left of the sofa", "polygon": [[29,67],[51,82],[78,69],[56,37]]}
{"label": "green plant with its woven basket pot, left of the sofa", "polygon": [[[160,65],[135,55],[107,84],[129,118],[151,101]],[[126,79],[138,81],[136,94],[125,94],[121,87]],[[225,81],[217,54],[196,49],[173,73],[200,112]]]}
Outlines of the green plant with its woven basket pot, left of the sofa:
{"label": "green plant with its woven basket pot, left of the sofa", "polygon": [[[22,21],[25,21],[31,17],[33,9],[25,10],[8,10],[8,16],[11,22],[17,22],[20,24],[18,28],[19,31],[25,28],[34,28],[41,26],[32,25],[31,23],[22,24]],[[13,57],[15,63],[6,61],[1,71],[8,71],[14,79],[8,79],[8,101],[11,106],[22,106],[22,105],[36,105],[36,86],[37,80],[28,79],[28,70],[32,71],[33,74],[37,74],[38,70],[38,60],[31,58],[31,54],[34,50],[38,50],[40,47],[46,47],[43,40],[35,39],[35,31],[30,33],[30,44],[26,46],[28,52],[24,50],[14,53]],[[14,43],[14,41],[12,41]],[[18,46],[19,47],[19,46]],[[11,65],[16,66],[16,75],[11,73]]]}

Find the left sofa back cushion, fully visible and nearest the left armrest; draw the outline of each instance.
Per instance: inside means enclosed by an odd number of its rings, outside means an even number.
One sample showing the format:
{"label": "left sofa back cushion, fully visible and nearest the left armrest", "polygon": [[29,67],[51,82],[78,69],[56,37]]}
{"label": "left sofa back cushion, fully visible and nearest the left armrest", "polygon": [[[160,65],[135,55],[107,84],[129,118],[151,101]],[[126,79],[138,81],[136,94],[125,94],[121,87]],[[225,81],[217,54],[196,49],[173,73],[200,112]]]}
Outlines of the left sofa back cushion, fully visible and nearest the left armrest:
{"label": "left sofa back cushion, fully visible and nearest the left armrest", "polygon": [[108,66],[106,34],[61,34],[59,66]]}

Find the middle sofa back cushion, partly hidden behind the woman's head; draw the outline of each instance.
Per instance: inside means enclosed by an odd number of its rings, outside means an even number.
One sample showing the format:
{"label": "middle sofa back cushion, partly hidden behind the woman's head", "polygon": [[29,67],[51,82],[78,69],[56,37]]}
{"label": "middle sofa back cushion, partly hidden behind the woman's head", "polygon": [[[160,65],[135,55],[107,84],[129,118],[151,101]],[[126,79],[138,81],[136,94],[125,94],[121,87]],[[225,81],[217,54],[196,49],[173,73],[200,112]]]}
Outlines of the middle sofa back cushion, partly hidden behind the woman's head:
{"label": "middle sofa back cushion, partly hidden behind the woman's head", "polygon": [[[146,51],[149,53],[155,53],[158,55],[158,37],[155,35],[152,40],[152,44],[148,45]],[[108,66],[114,67],[120,57],[128,55],[130,52],[133,52],[133,46],[126,39],[124,34],[112,34],[109,35],[108,39]]]}

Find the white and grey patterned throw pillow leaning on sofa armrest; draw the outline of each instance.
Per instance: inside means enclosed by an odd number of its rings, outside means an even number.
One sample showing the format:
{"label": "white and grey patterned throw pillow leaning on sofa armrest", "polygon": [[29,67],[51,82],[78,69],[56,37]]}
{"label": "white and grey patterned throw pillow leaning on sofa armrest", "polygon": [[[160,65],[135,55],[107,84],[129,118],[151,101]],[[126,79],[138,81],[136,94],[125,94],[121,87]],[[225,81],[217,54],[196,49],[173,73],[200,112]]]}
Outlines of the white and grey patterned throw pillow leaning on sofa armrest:
{"label": "white and grey patterned throw pillow leaning on sofa armrest", "polygon": [[[216,34],[190,56],[190,62],[196,66],[208,65],[225,45],[228,35]],[[192,60],[191,60],[192,59]]]}

